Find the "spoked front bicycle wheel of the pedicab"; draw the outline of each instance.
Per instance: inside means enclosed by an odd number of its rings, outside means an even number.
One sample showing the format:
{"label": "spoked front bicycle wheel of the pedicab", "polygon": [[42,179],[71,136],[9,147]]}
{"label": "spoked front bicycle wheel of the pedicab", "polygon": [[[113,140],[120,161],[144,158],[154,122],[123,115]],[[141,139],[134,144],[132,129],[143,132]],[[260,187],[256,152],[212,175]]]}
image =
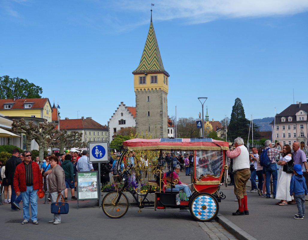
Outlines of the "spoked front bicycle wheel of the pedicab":
{"label": "spoked front bicycle wheel of the pedicab", "polygon": [[107,193],[102,200],[102,209],[104,214],[109,218],[122,218],[128,210],[128,198],[124,193],[121,193],[119,202],[116,201],[119,198],[117,191]]}

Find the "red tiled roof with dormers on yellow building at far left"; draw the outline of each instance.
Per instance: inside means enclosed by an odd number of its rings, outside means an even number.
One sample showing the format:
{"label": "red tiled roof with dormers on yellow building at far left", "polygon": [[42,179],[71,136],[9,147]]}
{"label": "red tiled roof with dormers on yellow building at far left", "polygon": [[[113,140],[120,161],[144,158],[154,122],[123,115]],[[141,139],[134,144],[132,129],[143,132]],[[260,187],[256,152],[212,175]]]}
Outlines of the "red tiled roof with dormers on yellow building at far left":
{"label": "red tiled roof with dormers on yellow building at far left", "polygon": [[[33,108],[44,108],[46,102],[49,101],[48,98],[21,98],[21,99],[0,99],[0,109],[5,109],[4,104],[14,103],[10,109],[25,109],[24,103],[33,103]],[[29,108],[29,109],[31,109]]]}

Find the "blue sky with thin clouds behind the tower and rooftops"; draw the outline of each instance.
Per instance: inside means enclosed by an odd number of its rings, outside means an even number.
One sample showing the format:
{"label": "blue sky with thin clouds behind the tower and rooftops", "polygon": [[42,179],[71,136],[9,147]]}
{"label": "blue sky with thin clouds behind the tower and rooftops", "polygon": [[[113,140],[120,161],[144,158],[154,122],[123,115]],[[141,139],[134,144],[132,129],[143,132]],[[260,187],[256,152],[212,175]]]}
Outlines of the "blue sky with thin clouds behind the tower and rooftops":
{"label": "blue sky with thin clouds behind the tower and rooftops", "polygon": [[[153,25],[170,74],[168,115],[246,117],[308,102],[308,1],[153,1]],[[61,118],[107,124],[120,102],[135,106],[132,71],[151,2],[2,0],[0,75],[28,79],[59,103]],[[77,112],[79,111],[79,112]],[[206,110],[205,110],[206,112]]]}

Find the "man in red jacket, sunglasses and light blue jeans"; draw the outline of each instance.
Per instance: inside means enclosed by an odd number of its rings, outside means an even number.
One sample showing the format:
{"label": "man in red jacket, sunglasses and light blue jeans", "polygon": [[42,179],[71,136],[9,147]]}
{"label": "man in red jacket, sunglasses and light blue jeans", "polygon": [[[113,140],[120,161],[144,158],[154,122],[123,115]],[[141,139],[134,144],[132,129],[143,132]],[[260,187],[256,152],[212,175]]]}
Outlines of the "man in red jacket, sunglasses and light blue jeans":
{"label": "man in red jacket, sunglasses and light blue jeans", "polygon": [[37,225],[38,196],[36,192],[43,189],[43,178],[39,165],[31,160],[31,152],[22,153],[24,161],[17,165],[14,173],[14,189],[16,195],[22,196],[23,222],[30,221],[29,203],[31,205],[31,220]]}

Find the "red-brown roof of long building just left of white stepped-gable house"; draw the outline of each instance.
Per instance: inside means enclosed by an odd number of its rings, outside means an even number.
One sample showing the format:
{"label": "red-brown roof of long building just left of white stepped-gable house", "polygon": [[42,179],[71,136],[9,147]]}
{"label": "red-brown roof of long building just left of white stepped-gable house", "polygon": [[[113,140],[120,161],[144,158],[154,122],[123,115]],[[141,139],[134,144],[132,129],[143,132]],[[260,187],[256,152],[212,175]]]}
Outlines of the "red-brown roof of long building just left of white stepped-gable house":
{"label": "red-brown roof of long building just left of white stepped-gable house", "polygon": [[92,119],[65,119],[59,120],[60,129],[100,129],[107,130],[108,128],[95,122]]}

